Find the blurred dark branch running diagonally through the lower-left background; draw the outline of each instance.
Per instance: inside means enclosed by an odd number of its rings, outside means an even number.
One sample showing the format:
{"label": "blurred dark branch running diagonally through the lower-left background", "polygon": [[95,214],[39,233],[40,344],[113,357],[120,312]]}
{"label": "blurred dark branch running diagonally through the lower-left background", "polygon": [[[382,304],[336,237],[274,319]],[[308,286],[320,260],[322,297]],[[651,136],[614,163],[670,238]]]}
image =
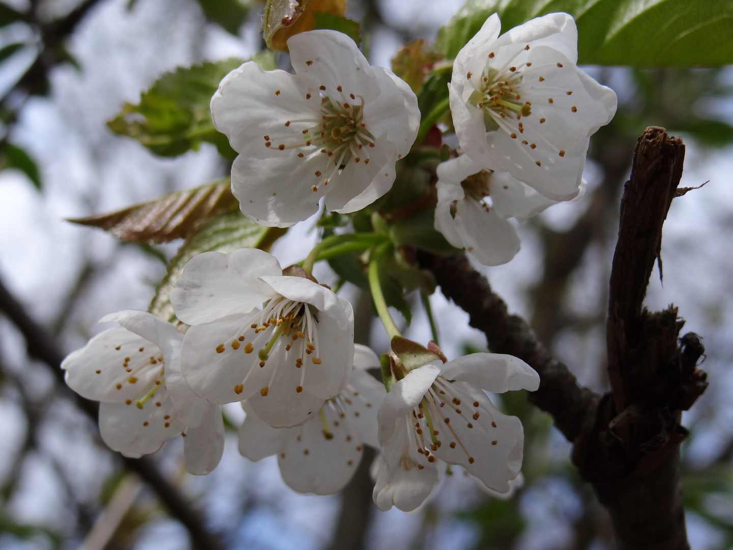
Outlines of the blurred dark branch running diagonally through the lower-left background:
{"label": "blurred dark branch running diagonally through the lower-left background", "polygon": [[[40,361],[48,365],[51,372],[54,373],[56,380],[59,381],[60,387],[67,389],[64,382],[64,371],[61,369],[62,353],[54,347],[51,337],[29,317],[25,309],[23,309],[23,306],[12,296],[1,281],[0,312],[7,315],[7,318],[23,334],[29,356],[40,359]],[[97,422],[97,402],[84,399],[84,397],[73,394],[68,389],[67,392],[70,396],[73,396],[76,405]],[[142,480],[150,485],[172,516],[177,518],[188,529],[194,548],[200,550],[218,550],[221,548],[221,543],[205,527],[199,513],[191,508],[191,505],[186,502],[173,485],[168,483],[151,458],[122,457],[122,462],[125,463],[128,469],[136,472]]]}

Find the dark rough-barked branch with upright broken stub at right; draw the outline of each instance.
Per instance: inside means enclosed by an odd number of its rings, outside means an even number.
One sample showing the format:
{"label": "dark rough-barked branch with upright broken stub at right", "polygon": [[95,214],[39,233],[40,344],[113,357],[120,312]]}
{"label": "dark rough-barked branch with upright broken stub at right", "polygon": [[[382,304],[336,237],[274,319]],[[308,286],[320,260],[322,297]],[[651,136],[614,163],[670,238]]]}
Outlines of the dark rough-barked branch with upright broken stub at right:
{"label": "dark rough-barked branch with upright broken stub at right", "polygon": [[707,387],[696,367],[704,348],[694,333],[679,338],[677,308],[642,309],[655,260],[661,271],[662,225],[682,175],[685,146],[663,128],[638,140],[621,206],[607,322],[611,392],[578,385],[526,321],[509,315],[463,254],[419,254],[446,298],[468,312],[491,351],[528,362],[540,377],[529,399],[553,416],[573,443],[572,460],[614,524],[619,550],[688,550],[679,485],[681,411]]}

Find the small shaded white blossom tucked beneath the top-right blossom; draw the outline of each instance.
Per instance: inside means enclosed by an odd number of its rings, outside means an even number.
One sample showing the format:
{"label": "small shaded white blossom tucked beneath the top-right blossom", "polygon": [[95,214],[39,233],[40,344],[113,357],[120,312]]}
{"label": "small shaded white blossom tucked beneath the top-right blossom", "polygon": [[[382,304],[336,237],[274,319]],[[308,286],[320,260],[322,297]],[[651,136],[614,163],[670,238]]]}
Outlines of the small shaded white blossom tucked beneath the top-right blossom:
{"label": "small shaded white blossom tucked beneath the top-right blossom", "polygon": [[435,229],[483,265],[507,263],[519,252],[519,237],[507,218],[523,221],[556,202],[468,155],[438,165],[437,188]]}

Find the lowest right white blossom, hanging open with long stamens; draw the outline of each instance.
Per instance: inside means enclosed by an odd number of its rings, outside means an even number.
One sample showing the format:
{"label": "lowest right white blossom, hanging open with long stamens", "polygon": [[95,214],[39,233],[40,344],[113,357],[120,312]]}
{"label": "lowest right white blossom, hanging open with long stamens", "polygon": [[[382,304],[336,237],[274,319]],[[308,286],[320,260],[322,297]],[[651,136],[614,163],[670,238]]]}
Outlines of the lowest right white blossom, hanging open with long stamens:
{"label": "lowest right white blossom, hanging open with long stamens", "polygon": [[522,465],[522,423],[498,411],[482,389],[538,386],[528,364],[496,353],[411,370],[377,413],[384,453],[373,494],[377,507],[414,510],[438,483],[440,461],[463,466],[487,488],[507,493]]}

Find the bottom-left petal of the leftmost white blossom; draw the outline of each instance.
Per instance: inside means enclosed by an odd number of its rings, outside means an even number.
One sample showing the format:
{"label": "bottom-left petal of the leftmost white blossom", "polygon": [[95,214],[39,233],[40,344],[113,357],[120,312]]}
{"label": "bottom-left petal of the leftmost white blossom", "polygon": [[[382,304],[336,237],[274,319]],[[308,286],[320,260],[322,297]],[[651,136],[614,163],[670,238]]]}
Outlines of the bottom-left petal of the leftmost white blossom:
{"label": "bottom-left petal of the leftmost white blossom", "polygon": [[163,441],[181,433],[183,425],[175,417],[172,401],[165,389],[158,391],[160,407],[151,401],[143,408],[137,408],[134,403],[100,403],[99,428],[108,447],[139,458],[157,451]]}

